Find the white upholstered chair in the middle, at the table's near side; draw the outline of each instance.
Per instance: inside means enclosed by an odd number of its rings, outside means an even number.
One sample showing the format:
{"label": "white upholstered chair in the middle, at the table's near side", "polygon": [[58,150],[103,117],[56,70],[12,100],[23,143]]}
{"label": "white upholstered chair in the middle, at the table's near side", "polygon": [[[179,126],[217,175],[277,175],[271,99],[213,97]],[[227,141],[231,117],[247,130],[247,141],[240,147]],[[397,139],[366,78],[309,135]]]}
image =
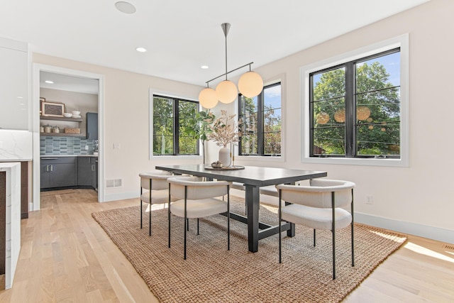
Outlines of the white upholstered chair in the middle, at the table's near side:
{"label": "white upholstered chair in the middle, at the table's near side", "polygon": [[[214,214],[227,213],[227,249],[230,250],[230,194],[231,182],[202,181],[201,177],[171,177],[169,182],[170,197],[177,201],[170,204],[169,211],[175,216],[184,218],[184,260],[186,260],[188,219],[197,219]],[[216,197],[227,195],[227,202]],[[170,216],[169,216],[170,247]]]}

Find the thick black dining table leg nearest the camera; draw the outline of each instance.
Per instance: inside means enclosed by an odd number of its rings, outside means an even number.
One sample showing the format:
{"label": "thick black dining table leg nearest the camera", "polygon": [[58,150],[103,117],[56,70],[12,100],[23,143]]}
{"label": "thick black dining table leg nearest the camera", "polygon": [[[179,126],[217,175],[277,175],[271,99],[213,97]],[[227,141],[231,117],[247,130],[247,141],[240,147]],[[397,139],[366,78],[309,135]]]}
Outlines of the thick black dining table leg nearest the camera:
{"label": "thick black dining table leg nearest the camera", "polygon": [[245,199],[248,205],[248,244],[249,251],[258,251],[258,210],[260,207],[259,187],[245,184]]}

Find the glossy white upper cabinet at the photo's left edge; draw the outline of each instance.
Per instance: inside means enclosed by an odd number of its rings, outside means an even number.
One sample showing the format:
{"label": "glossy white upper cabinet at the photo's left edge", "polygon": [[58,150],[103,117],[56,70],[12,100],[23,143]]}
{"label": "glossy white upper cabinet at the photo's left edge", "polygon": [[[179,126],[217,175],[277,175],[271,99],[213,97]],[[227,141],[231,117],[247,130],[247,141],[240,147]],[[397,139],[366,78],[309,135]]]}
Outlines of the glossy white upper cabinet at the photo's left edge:
{"label": "glossy white upper cabinet at the photo's left edge", "polygon": [[28,130],[28,44],[0,38],[0,128]]}

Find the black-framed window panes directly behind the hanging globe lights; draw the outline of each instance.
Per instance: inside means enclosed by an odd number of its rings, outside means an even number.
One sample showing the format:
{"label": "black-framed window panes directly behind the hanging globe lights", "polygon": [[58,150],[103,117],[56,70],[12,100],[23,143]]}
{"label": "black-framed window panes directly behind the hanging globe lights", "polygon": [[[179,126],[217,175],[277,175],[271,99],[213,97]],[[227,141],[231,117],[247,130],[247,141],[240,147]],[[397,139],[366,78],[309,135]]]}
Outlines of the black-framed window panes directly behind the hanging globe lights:
{"label": "black-framed window panes directly behind the hanging globe lights", "polygon": [[239,155],[281,155],[281,83],[267,85],[253,98],[240,95]]}

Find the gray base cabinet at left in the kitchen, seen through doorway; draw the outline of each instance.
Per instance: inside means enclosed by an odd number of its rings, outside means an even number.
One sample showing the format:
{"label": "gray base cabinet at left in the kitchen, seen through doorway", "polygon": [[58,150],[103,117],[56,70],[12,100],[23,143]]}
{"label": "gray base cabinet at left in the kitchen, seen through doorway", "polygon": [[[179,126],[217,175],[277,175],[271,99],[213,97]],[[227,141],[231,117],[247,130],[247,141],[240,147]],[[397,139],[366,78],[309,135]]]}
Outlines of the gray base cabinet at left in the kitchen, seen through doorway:
{"label": "gray base cabinet at left in the kitchen, seen through doorway", "polygon": [[43,157],[40,164],[40,188],[77,185],[76,157]]}

